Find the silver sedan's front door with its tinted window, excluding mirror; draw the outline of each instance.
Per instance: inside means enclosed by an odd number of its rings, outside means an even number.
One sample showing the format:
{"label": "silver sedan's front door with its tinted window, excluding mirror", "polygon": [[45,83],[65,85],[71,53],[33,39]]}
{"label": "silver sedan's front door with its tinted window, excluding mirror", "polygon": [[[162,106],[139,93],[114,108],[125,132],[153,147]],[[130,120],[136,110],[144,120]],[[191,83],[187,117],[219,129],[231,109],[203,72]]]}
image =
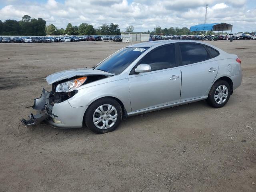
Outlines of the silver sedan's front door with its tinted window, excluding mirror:
{"label": "silver sedan's front door with its tinted window, excluding mirror", "polygon": [[155,48],[138,64],[148,64],[152,70],[130,74],[132,112],[180,102],[181,76],[174,45]]}

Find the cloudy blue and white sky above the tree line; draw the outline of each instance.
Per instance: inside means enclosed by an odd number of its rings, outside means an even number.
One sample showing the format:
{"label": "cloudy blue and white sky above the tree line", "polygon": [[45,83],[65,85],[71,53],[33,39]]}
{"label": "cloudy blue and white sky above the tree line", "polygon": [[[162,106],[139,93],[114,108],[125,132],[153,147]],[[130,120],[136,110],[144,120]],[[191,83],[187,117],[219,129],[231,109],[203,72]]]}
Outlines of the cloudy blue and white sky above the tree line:
{"label": "cloudy blue and white sky above the tree line", "polygon": [[0,20],[22,16],[43,18],[46,24],[66,28],[68,23],[118,24],[121,31],[133,25],[134,32],[225,22],[233,32],[256,31],[256,0],[0,0]]}

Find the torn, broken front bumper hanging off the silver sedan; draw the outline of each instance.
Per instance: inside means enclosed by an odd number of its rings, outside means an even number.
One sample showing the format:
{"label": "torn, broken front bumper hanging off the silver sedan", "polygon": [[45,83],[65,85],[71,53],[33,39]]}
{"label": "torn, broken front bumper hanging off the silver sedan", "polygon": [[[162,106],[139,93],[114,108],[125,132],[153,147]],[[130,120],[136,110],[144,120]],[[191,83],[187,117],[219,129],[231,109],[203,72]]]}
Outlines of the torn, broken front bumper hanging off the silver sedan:
{"label": "torn, broken front bumper hanging off the silver sedan", "polygon": [[52,101],[52,92],[43,88],[40,98],[34,99],[33,109],[37,114],[30,114],[29,119],[20,121],[26,126],[48,122],[56,128],[80,128],[83,125],[84,113],[88,106],[72,107],[68,100],[56,103]]}

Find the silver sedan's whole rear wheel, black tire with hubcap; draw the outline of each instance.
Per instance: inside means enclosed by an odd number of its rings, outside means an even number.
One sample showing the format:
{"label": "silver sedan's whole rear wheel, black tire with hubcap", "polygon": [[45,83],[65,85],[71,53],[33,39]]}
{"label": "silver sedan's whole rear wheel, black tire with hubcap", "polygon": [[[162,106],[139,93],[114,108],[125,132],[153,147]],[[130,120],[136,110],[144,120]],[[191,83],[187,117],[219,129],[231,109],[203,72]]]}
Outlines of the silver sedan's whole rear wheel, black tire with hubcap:
{"label": "silver sedan's whole rear wheel, black tire with hubcap", "polygon": [[228,102],[230,93],[231,89],[228,82],[224,80],[218,80],[212,85],[206,102],[215,108],[223,107]]}

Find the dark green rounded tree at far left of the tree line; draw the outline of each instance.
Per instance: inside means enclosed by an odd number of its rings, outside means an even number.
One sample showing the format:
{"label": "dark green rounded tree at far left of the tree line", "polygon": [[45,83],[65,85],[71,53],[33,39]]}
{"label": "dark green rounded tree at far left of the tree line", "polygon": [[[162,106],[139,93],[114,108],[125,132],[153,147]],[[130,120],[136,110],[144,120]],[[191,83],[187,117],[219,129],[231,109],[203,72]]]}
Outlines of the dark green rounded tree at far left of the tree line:
{"label": "dark green rounded tree at far left of the tree line", "polygon": [[6,20],[3,23],[3,35],[20,35],[20,24],[16,20]]}

